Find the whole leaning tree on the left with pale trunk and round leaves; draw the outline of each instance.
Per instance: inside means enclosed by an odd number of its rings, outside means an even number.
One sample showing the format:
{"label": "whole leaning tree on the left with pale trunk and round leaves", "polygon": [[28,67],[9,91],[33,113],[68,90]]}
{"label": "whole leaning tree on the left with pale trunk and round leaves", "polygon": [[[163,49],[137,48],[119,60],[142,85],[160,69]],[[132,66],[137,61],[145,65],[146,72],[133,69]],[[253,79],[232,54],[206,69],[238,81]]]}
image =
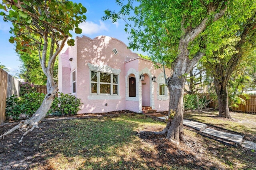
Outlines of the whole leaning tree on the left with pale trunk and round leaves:
{"label": "whole leaning tree on the left with pale trunk and round leaves", "polygon": [[[10,43],[16,43],[16,51],[30,53],[38,50],[38,60],[47,77],[47,92],[42,105],[32,117],[1,135],[4,137],[19,129],[26,133],[38,128],[38,123],[46,116],[58,92],[54,81],[54,63],[64,44],[74,45],[70,31],[82,33],[78,24],[86,19],[86,8],[81,3],[68,0],[2,0],[0,12],[4,21],[12,22]],[[50,42],[48,41],[50,39]],[[47,53],[49,50],[49,53]]]}

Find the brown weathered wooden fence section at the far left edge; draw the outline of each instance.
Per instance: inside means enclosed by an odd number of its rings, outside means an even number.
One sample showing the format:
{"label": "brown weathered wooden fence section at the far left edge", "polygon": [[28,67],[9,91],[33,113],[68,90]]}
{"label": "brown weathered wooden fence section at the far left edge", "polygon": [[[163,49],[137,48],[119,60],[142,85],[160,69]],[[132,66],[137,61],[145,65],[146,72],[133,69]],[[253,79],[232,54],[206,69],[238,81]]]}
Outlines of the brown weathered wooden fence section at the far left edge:
{"label": "brown weathered wooden fence section at the far left edge", "polygon": [[0,124],[5,121],[8,73],[0,68]]}

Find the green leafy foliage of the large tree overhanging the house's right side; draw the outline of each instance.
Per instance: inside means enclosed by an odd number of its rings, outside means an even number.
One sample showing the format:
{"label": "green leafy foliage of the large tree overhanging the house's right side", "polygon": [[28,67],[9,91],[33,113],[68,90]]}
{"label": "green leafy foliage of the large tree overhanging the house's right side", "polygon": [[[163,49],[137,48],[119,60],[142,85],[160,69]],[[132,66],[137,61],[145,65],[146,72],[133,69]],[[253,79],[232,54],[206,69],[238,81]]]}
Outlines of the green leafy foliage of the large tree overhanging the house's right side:
{"label": "green leafy foliage of the large tree overhanging the house's right side", "polygon": [[[138,6],[133,0],[128,0],[125,5],[122,0],[116,2],[122,6],[120,12],[105,10],[106,16],[103,19],[127,21],[125,31],[130,34],[129,48],[148,52],[150,59],[158,63],[164,61],[169,67],[177,57],[179,41],[184,33],[196,28],[204,18],[214,18],[215,14],[207,11],[207,6],[212,1],[138,0]],[[220,3],[216,12],[220,12],[226,4],[227,1]],[[126,18],[128,15],[130,16]],[[210,24],[212,20],[208,22]],[[192,47],[194,50],[189,54],[190,59],[199,50],[197,43],[191,43],[190,49]]]}

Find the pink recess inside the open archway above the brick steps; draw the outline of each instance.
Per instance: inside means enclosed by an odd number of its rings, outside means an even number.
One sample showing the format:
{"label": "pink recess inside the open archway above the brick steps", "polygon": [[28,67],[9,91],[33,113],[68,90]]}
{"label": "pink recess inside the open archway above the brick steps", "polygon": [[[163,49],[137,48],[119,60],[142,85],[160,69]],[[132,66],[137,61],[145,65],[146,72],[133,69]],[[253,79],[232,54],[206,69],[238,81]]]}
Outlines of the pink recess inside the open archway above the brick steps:
{"label": "pink recess inside the open archway above the brick steps", "polygon": [[150,106],[150,78],[144,74],[145,78],[141,81],[142,106]]}

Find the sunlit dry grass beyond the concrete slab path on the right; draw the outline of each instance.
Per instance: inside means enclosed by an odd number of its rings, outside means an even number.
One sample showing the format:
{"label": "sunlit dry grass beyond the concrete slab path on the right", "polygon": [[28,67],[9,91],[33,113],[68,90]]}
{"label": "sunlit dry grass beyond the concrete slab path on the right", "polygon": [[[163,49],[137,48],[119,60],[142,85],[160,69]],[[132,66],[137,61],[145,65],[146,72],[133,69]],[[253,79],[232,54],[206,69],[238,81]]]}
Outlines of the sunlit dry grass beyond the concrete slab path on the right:
{"label": "sunlit dry grass beyond the concrete slab path on the right", "polygon": [[231,112],[232,119],[214,117],[217,115],[218,111],[214,110],[207,110],[201,113],[197,111],[184,111],[184,118],[243,133],[245,139],[256,143],[256,114]]}

